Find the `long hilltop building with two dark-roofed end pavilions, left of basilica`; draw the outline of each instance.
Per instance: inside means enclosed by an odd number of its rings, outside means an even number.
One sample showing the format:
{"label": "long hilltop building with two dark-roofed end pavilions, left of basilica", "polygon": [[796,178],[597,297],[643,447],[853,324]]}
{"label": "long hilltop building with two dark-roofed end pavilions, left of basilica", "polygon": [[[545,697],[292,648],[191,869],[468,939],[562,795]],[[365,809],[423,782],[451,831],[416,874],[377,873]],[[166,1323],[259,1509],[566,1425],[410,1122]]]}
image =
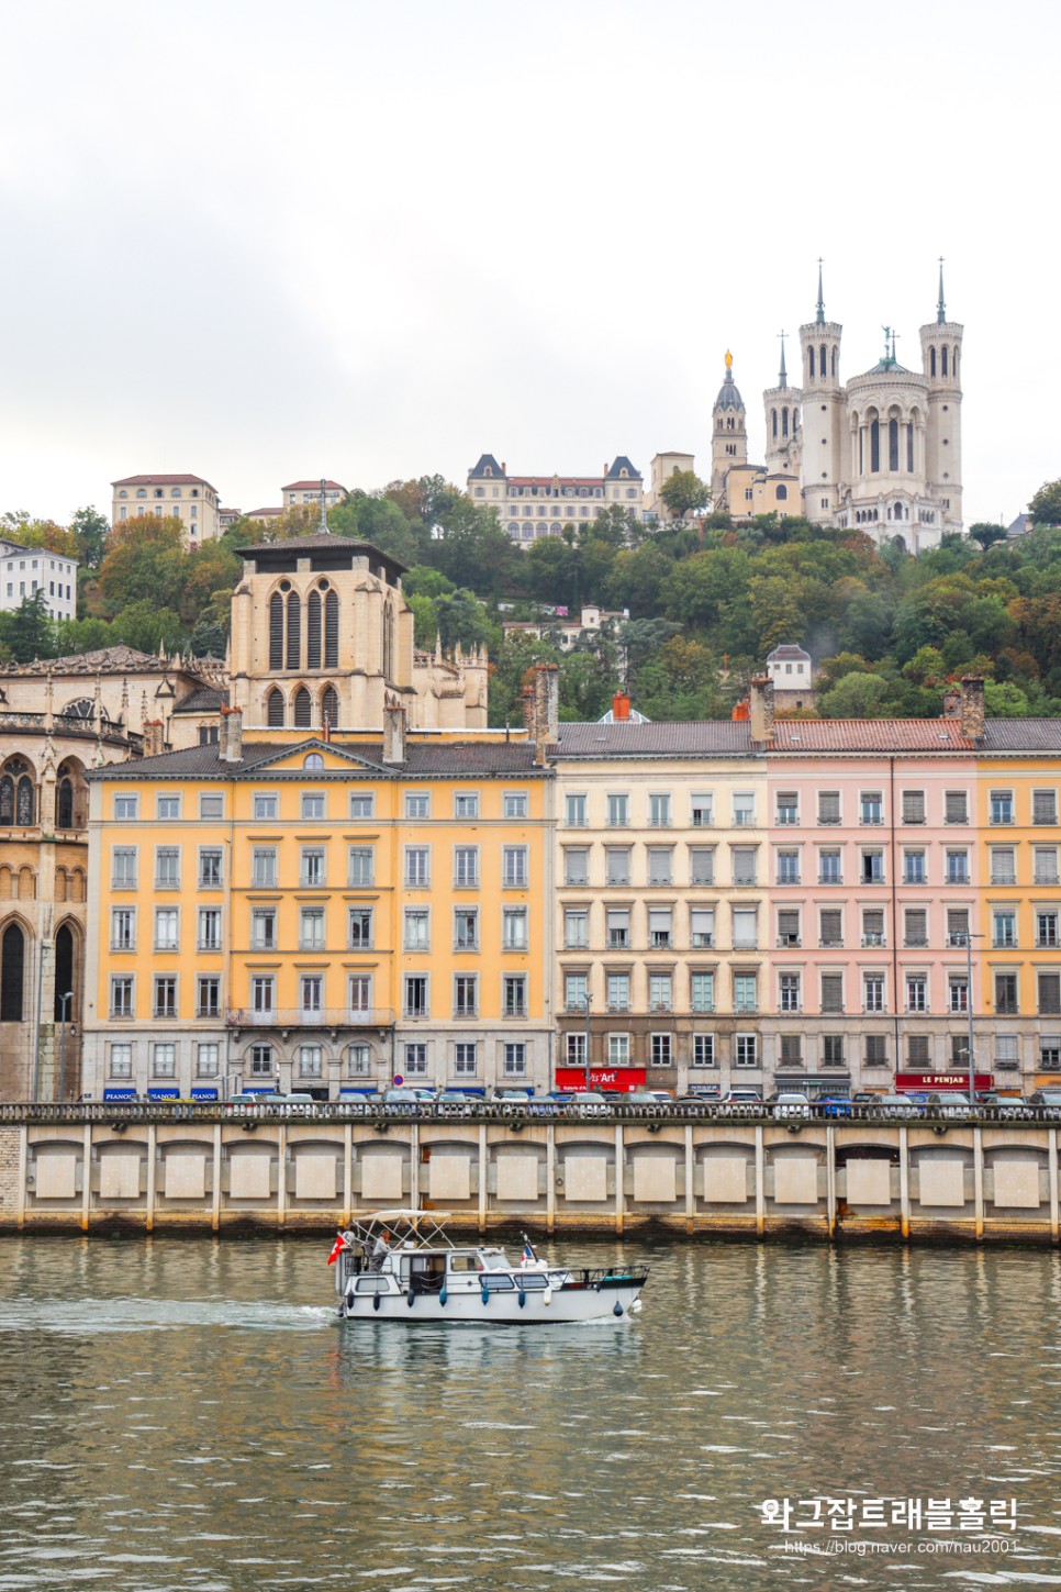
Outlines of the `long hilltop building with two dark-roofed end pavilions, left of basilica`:
{"label": "long hilltop building with two dark-roofed end pavilions, left of basilica", "polygon": [[625,454],[604,463],[600,476],[511,476],[493,454],[482,454],[468,471],[468,497],[495,509],[519,543],[560,537],[612,506],[644,519],[644,481]]}

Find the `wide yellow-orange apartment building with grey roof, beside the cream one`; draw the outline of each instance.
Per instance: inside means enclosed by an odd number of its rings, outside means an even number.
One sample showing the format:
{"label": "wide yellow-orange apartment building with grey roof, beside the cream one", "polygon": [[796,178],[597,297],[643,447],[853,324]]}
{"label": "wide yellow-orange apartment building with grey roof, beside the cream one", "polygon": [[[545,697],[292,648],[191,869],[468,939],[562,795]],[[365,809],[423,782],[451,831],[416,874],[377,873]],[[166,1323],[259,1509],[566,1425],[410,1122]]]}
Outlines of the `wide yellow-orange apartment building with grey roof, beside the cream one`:
{"label": "wide yellow-orange apartment building with grey roof, beside the cream one", "polygon": [[550,1076],[550,777],[527,740],[243,740],[91,775],[84,1087],[318,1098]]}

